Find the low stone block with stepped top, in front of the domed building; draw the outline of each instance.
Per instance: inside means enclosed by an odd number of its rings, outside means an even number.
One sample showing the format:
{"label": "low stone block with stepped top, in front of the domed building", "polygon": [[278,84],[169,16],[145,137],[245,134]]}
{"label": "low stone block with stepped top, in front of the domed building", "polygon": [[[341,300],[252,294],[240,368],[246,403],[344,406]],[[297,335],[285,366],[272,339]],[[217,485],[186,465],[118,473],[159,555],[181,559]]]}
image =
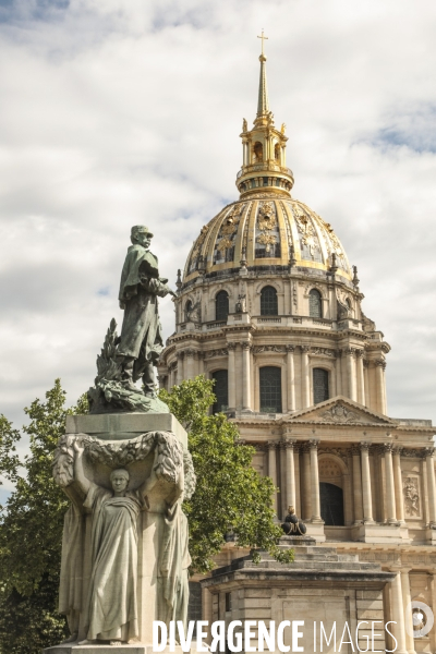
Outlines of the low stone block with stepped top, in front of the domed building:
{"label": "low stone block with stepped top, in front of the domed building", "polygon": [[[259,552],[259,564],[254,564],[251,556],[241,557],[213,570],[211,577],[201,582],[211,594],[209,620],[226,619],[226,623],[242,620],[238,628],[242,642],[246,620],[263,620],[267,629],[271,620],[276,629],[282,620],[301,620],[304,621],[300,628],[303,635],[298,645],[304,647],[304,652],[325,653],[339,651],[346,622],[354,640],[358,623],[366,620],[361,625],[358,642],[364,651],[365,638],[371,638],[371,620],[383,625],[383,590],[395,574],[382,571],[378,564],[360,561],[356,555],[338,554],[335,547],[318,546],[311,536],[283,536],[280,547],[294,549],[292,564],[279,564],[267,552]],[[327,638],[336,623],[336,637],[329,644],[324,641],[324,649],[319,646],[320,622]],[[257,623],[251,630],[253,646],[257,643]],[[375,650],[385,651],[383,626],[374,643]],[[284,631],[284,645],[292,651],[291,629]],[[341,651],[356,652],[355,645],[354,641],[353,650],[343,645]],[[242,651],[245,651],[244,642]]]}

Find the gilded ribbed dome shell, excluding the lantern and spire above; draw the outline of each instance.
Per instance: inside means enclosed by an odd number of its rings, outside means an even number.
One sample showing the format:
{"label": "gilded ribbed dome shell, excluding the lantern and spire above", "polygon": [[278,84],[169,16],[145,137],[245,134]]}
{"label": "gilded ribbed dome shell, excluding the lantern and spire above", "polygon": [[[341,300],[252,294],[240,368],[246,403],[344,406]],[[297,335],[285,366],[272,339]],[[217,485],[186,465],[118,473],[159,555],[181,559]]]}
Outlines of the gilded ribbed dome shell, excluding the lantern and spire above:
{"label": "gilded ribbed dome shell, excluding the lantern and spire above", "polygon": [[[250,196],[251,195],[251,196]],[[331,226],[288,193],[253,192],[228,205],[202,228],[183,282],[241,266],[298,266],[352,279]]]}

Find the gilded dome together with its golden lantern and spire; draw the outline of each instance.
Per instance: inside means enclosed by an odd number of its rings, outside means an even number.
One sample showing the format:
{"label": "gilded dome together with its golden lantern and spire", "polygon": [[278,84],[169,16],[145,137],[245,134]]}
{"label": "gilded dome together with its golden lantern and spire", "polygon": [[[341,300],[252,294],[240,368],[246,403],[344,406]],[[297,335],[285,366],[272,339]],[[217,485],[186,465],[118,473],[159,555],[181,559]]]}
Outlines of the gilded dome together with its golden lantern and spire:
{"label": "gilded dome together with its golden lantern and spire", "polygon": [[251,130],[244,119],[240,134],[240,199],[202,228],[187,257],[183,282],[198,275],[215,277],[241,267],[270,266],[276,271],[295,266],[324,270],[351,280],[346,252],[330,225],[291,197],[294,180],[286,164],[286,124],[280,130],[275,126],[264,50],[259,60],[256,118]]}

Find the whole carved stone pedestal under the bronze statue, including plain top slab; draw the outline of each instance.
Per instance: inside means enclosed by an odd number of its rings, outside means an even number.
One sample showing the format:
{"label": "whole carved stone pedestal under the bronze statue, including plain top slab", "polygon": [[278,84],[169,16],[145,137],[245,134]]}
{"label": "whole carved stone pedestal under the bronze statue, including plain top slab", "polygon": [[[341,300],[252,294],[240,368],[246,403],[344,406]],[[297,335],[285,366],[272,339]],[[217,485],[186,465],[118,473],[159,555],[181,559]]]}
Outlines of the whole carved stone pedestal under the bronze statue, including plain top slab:
{"label": "whole carved stone pedestal under the bronze statue, including plain top slab", "polygon": [[53,476],[72,501],[60,613],[76,642],[45,654],[150,654],[153,621],[185,619],[187,610],[191,559],[181,504],[195,475],[186,432],[170,413],[68,416]]}

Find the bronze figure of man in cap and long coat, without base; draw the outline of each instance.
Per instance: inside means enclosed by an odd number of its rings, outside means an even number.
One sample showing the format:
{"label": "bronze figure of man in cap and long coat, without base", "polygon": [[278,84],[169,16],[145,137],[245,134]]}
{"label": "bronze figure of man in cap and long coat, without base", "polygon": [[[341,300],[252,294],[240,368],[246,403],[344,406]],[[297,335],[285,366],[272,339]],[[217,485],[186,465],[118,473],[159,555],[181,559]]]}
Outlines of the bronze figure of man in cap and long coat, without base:
{"label": "bronze figure of man in cap and long coat, without base", "polygon": [[155,396],[154,365],[164,349],[157,298],[168,293],[168,279],[159,278],[157,258],[148,250],[153,234],[144,225],[132,227],[132,245],[121,272],[120,307],[124,310],[117,359],[122,366],[122,384],[137,391],[142,377],[144,393]]}

